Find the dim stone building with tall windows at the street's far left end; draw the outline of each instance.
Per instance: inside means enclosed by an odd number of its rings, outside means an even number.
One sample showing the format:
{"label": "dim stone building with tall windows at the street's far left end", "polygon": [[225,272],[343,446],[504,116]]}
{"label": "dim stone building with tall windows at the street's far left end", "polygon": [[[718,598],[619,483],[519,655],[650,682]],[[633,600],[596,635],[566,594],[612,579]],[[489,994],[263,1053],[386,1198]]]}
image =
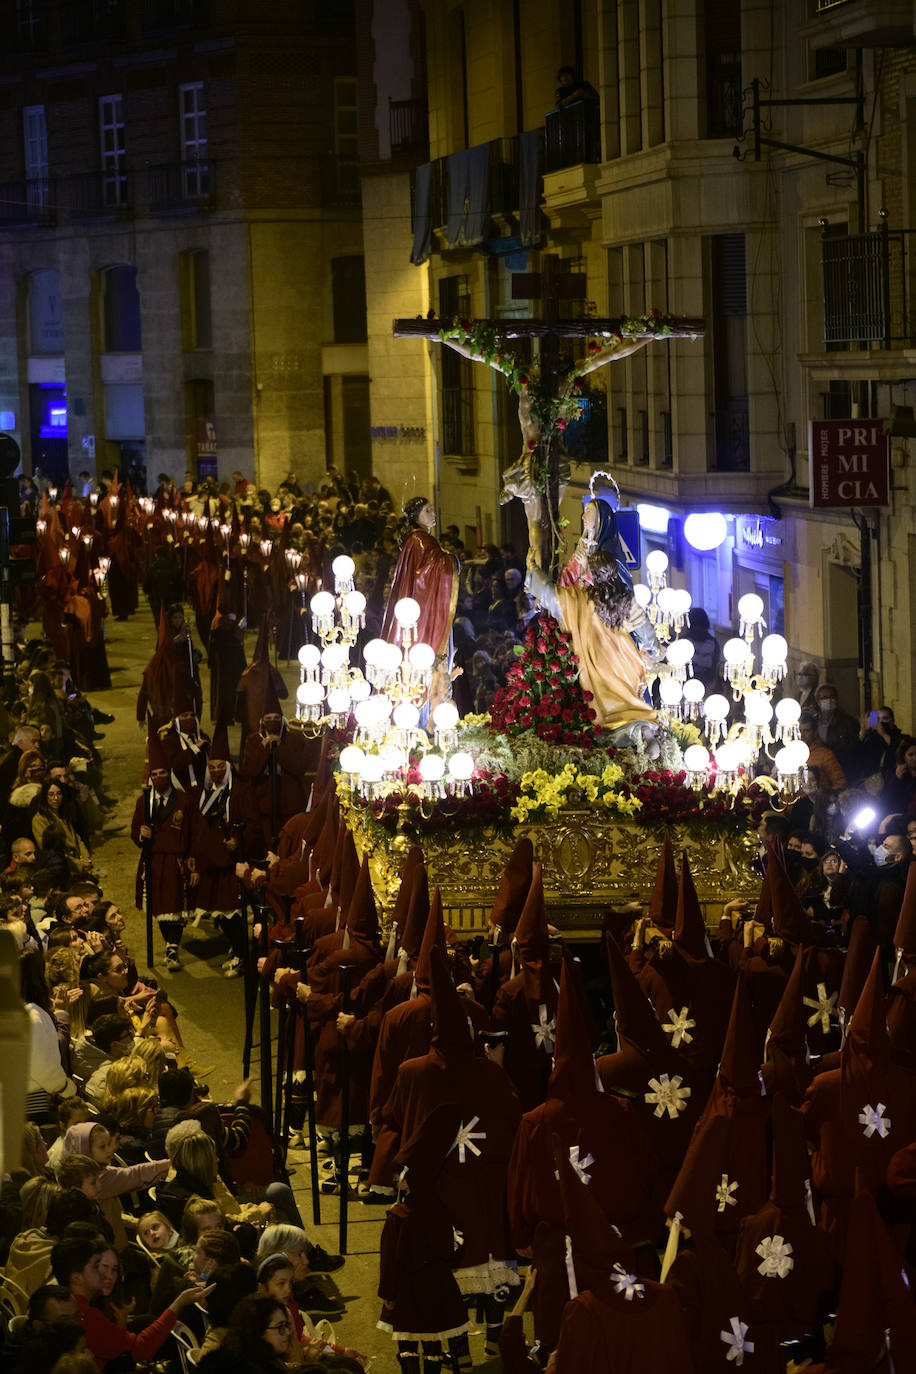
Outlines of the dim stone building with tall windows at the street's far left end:
{"label": "dim stone building with tall windows at the street's far left end", "polygon": [[0,14],[0,423],[25,469],[368,471],[353,4]]}

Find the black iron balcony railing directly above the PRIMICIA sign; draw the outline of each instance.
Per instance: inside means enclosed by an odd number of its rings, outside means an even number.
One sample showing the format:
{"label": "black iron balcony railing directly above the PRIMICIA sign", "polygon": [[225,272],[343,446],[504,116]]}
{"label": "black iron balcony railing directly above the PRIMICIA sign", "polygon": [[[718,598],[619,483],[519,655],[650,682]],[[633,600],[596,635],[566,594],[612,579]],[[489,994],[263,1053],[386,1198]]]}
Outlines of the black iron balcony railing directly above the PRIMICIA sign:
{"label": "black iron balcony railing directly above the PRIMICIA sign", "polygon": [[825,234],[824,342],[909,342],[906,239],[883,224],[867,234]]}

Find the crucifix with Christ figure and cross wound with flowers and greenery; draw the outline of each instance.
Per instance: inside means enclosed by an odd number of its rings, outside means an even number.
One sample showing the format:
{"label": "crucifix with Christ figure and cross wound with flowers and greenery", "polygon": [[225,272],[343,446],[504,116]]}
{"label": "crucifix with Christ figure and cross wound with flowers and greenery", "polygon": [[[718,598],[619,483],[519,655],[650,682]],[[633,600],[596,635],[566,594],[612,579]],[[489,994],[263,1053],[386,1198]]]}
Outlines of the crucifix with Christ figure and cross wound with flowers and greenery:
{"label": "crucifix with Christ figure and cross wound with flowers and greenery", "polygon": [[[584,378],[617,363],[651,339],[700,338],[705,322],[652,311],[633,319],[564,319],[563,301],[582,300],[584,273],[560,272],[559,258],[544,254],[540,272],[512,276],[514,300],[540,300],[541,319],[441,320],[435,316],[396,320],[394,338],[426,338],[445,344],[472,363],[503,372],[519,398],[522,453],[503,473],[503,504],[518,496],[529,529],[529,566],[551,573],[559,555],[559,508],[569,482],[563,431],[578,419]],[[516,338],[538,339],[538,361],[525,363],[511,348]],[[566,363],[560,339],[581,339],[585,357]]]}

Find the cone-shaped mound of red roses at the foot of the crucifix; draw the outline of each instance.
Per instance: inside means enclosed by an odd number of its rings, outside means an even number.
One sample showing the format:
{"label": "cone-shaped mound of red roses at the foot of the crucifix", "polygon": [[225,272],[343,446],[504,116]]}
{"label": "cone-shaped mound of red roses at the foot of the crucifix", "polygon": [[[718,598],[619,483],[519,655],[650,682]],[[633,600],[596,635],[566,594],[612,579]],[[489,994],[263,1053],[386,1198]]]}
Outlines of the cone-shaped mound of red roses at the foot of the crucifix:
{"label": "cone-shaped mound of red roses at the foot of the crucifix", "polygon": [[600,735],[591,701],[570,636],[551,616],[541,616],[529,625],[525,647],[493,699],[490,721],[505,735],[533,730],[548,743],[588,749]]}

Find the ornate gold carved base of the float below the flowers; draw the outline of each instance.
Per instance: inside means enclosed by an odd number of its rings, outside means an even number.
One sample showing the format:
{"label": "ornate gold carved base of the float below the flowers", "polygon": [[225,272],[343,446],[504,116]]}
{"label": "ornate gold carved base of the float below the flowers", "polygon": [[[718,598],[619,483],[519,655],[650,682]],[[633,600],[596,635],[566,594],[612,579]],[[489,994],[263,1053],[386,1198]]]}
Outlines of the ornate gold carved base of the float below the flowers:
{"label": "ornate gold carved base of the float below the flowers", "polygon": [[[486,930],[500,877],[518,840],[527,835],[542,864],[548,918],[567,938],[593,940],[608,907],[648,903],[655,883],[662,840],[626,820],[604,820],[591,811],[564,811],[556,820],[516,826],[512,838],[485,830],[461,830],[416,838],[382,835],[364,824],[364,815],[342,805],[363,859],[368,852],[375,896],[385,923],[397,896],[401,866],[412,844],[426,859],[430,889],[439,888],[446,925],[463,934]],[[706,923],[718,925],[722,903],[732,897],[755,901],[759,878],[751,868],[757,848],[753,831],[696,838],[673,827],[674,852],[687,851]]]}

